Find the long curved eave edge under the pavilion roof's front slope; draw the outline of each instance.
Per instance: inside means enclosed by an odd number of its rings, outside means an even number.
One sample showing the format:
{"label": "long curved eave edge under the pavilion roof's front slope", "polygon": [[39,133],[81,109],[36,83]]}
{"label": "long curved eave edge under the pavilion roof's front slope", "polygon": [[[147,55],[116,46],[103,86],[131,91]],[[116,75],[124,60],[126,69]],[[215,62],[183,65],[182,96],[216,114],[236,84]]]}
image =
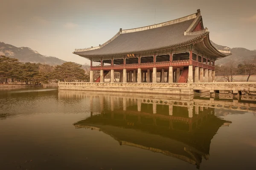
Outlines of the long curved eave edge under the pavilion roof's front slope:
{"label": "long curved eave edge under the pavilion roof's front slope", "polygon": [[73,54],[77,54],[81,57],[85,57],[85,58],[90,58],[90,57],[109,57],[109,56],[117,56],[117,55],[126,55],[126,54],[140,54],[140,53],[148,53],[148,52],[155,52],[155,51],[163,51],[163,50],[167,50],[167,49],[171,49],[171,48],[179,48],[179,47],[183,47],[186,45],[190,45],[190,44],[195,44],[198,43],[202,40],[202,38],[206,37],[209,34],[209,32],[206,32],[204,34],[199,35],[198,37],[186,41],[186,42],[182,42],[180,44],[175,44],[175,45],[169,45],[169,46],[165,46],[165,47],[160,47],[160,48],[151,48],[151,49],[147,49],[147,50],[138,50],[138,51],[126,51],[126,52],[122,52],[122,53],[111,53],[111,54],[88,54],[88,55],[84,55],[81,54],[80,52],[74,51]]}

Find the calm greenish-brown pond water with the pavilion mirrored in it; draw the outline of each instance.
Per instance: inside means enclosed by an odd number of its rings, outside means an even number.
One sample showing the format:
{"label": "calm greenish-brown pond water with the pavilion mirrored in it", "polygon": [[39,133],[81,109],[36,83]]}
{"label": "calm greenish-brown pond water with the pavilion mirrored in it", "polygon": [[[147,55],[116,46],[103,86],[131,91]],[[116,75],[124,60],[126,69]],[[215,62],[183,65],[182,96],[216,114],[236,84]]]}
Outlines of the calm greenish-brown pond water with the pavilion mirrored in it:
{"label": "calm greenish-brown pond water with the pavilion mirrored in it", "polygon": [[255,169],[256,102],[207,97],[2,90],[0,170]]}

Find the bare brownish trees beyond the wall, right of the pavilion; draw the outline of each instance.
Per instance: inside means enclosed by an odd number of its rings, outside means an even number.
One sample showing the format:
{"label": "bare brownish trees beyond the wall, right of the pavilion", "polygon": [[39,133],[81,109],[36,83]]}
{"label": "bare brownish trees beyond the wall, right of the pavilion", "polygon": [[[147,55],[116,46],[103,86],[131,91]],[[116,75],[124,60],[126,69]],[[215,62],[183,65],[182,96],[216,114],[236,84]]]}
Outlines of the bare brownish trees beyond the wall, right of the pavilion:
{"label": "bare brownish trees beyond the wall, right of the pavilion", "polygon": [[227,82],[233,82],[236,75],[247,76],[247,82],[250,76],[256,74],[256,57],[244,60],[244,63],[237,65],[233,60],[227,65],[215,65],[215,75],[223,76]]}

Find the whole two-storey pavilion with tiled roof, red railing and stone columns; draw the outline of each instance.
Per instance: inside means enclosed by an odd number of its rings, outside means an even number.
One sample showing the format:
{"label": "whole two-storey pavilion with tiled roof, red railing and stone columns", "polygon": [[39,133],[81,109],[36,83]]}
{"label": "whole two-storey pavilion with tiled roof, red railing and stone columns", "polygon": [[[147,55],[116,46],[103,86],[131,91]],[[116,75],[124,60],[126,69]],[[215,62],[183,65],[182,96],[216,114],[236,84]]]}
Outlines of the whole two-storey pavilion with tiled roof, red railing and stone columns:
{"label": "whole two-storey pavilion with tiled roof, red railing and stone columns", "polygon": [[[122,30],[97,47],[76,49],[73,54],[90,59],[93,71],[100,71],[96,82],[104,82],[111,71],[119,72],[119,82],[213,82],[215,60],[231,55],[218,50],[209,40],[200,9],[195,14],[151,26]],[[99,62],[95,66],[93,62]]]}

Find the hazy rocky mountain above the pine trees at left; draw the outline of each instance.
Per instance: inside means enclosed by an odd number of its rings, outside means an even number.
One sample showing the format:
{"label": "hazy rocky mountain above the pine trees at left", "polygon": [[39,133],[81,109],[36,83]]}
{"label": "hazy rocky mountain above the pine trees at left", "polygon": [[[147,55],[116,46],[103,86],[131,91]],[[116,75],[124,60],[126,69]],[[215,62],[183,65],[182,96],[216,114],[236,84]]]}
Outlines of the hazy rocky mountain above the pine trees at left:
{"label": "hazy rocky mountain above the pine trees at left", "polygon": [[56,57],[46,57],[28,47],[15,47],[4,42],[0,42],[0,55],[17,58],[20,62],[39,62],[48,65],[61,65],[66,62]]}

